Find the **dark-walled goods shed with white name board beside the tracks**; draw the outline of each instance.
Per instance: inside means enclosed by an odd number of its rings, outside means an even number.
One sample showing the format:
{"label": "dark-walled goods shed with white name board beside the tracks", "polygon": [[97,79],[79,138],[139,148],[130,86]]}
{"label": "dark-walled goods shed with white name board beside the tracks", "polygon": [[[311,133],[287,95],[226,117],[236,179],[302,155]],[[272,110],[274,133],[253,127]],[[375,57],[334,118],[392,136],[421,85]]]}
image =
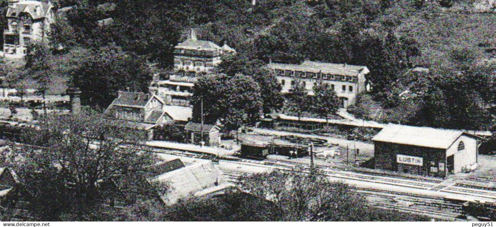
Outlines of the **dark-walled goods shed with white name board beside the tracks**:
{"label": "dark-walled goods shed with white name board beside the tracks", "polygon": [[388,124],[372,141],[375,169],[444,178],[477,167],[480,138],[464,131]]}

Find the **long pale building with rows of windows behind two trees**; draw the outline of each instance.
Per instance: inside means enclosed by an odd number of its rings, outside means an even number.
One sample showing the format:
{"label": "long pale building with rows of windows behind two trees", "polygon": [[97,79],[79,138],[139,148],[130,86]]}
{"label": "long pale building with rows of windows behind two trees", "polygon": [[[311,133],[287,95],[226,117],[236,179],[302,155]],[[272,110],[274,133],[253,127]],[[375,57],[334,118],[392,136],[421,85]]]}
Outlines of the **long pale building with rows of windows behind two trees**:
{"label": "long pale building with rows of windows behind two trees", "polygon": [[283,93],[290,93],[297,79],[303,81],[309,95],[313,95],[312,89],[318,80],[330,84],[344,108],[355,100],[357,94],[369,89],[365,75],[370,71],[366,66],[307,60],[302,64],[269,63],[267,68],[276,73]]}

